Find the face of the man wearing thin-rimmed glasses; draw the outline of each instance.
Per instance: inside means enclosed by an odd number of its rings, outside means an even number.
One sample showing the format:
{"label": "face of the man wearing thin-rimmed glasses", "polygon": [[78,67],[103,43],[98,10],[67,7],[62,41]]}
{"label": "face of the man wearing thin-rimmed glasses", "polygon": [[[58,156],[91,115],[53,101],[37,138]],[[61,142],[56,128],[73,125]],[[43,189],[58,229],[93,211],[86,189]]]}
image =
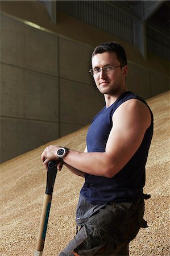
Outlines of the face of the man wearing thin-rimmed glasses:
{"label": "face of the man wearing thin-rimmed glasses", "polygon": [[[117,55],[114,52],[103,52],[94,55],[92,58],[92,68],[103,68],[109,65],[119,66]],[[123,90],[125,85],[125,77],[127,75],[127,65],[125,67],[117,67],[113,71],[106,73],[101,70],[98,74],[94,73],[94,81],[102,94],[110,96]]]}

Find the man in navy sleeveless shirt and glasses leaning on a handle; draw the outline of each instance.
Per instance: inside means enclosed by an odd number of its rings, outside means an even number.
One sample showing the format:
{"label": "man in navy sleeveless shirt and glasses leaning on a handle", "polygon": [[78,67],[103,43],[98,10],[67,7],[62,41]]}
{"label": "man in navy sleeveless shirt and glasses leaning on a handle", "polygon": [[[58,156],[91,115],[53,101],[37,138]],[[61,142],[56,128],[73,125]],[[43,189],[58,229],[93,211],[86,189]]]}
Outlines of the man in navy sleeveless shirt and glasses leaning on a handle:
{"label": "man in navy sleeveless shirt and glasses leaning on a handle", "polygon": [[85,152],[49,146],[42,153],[47,168],[56,160],[85,177],[80,191],[77,234],[64,255],[128,255],[128,243],[142,226],[145,165],[153,133],[153,115],[142,98],[126,88],[126,53],[116,42],[92,54],[94,81],[106,106],[94,117]]}

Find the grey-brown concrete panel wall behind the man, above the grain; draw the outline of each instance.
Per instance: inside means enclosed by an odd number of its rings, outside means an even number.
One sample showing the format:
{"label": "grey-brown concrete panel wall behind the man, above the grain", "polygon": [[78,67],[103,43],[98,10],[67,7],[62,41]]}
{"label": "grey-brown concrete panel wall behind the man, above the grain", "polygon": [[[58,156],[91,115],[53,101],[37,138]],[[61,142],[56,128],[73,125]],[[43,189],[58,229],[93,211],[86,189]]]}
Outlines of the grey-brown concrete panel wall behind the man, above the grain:
{"label": "grey-brown concrete panel wall behind the man, above the grain", "polygon": [[[102,108],[88,72],[94,45],[85,43],[1,15],[1,162],[80,129]],[[144,98],[168,90],[164,68],[151,68],[131,46],[135,61],[126,42],[125,48],[129,90]]]}

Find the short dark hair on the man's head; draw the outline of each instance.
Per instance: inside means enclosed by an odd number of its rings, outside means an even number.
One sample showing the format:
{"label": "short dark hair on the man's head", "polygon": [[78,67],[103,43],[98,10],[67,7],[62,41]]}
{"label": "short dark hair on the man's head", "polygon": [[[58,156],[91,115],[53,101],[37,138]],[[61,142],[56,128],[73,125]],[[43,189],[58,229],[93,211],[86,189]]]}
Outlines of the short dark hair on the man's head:
{"label": "short dark hair on the man's head", "polygon": [[94,55],[103,52],[114,52],[117,55],[117,59],[121,63],[121,65],[127,65],[125,49],[118,42],[106,42],[101,44],[100,46],[97,46],[92,53],[92,58],[94,57]]}

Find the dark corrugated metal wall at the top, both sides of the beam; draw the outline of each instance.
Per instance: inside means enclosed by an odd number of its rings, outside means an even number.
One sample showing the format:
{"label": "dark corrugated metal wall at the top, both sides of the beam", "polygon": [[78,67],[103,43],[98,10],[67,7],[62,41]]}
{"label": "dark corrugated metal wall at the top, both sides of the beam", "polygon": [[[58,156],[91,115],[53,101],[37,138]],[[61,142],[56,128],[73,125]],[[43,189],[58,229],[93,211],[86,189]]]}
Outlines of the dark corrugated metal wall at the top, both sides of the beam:
{"label": "dark corrugated metal wall at the top, both sides of the beam", "polygon": [[[57,1],[57,10],[134,43],[133,6],[123,1]],[[170,60],[168,34],[155,30],[154,26],[146,26],[146,31],[147,50]]]}

